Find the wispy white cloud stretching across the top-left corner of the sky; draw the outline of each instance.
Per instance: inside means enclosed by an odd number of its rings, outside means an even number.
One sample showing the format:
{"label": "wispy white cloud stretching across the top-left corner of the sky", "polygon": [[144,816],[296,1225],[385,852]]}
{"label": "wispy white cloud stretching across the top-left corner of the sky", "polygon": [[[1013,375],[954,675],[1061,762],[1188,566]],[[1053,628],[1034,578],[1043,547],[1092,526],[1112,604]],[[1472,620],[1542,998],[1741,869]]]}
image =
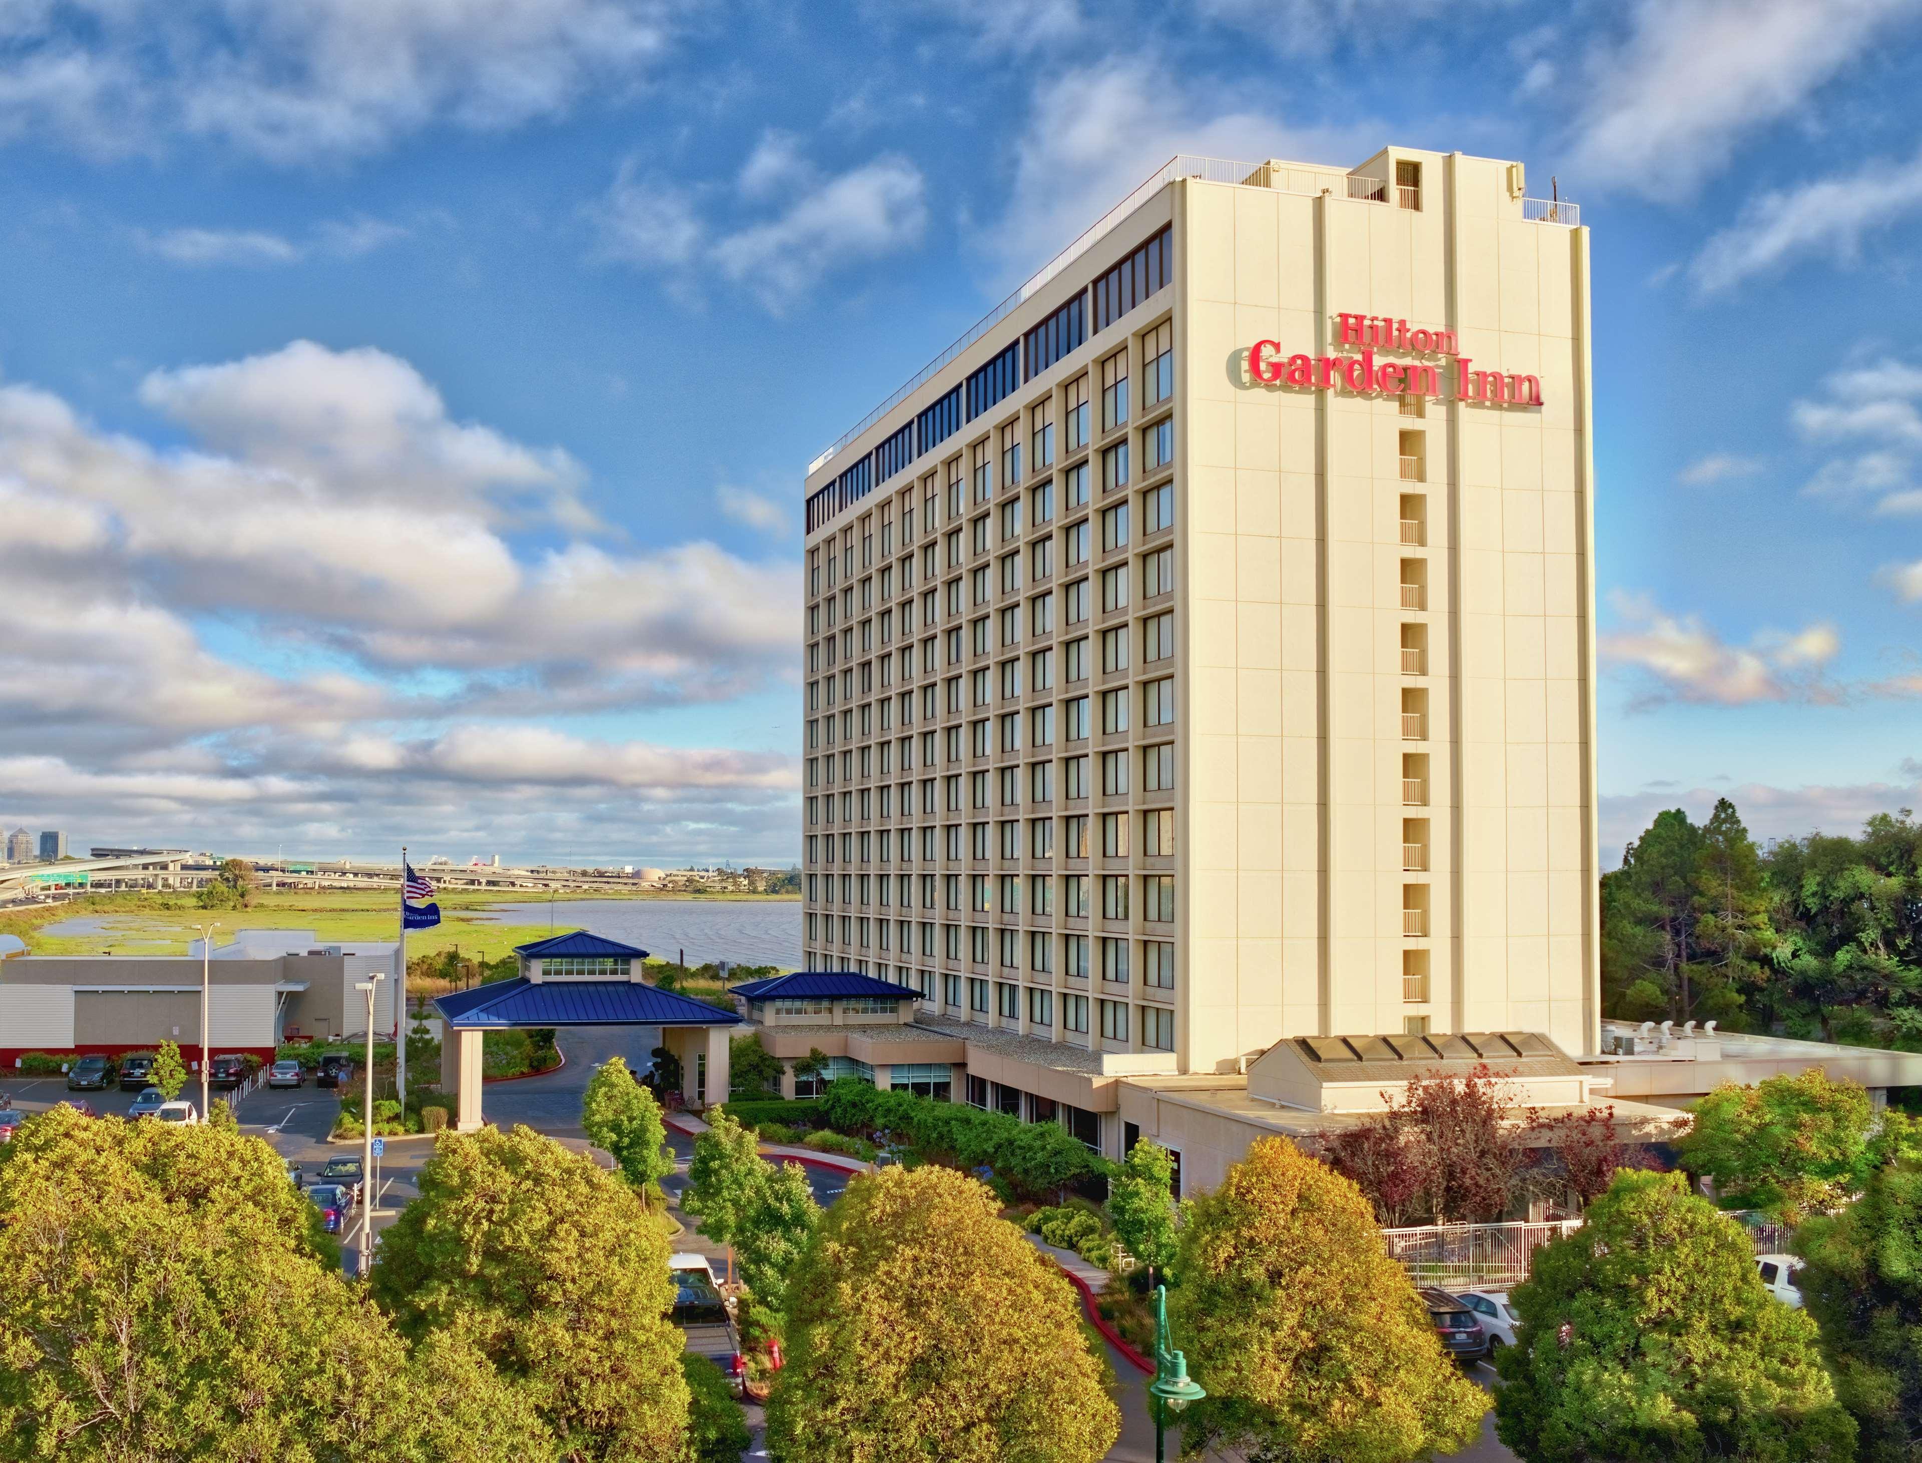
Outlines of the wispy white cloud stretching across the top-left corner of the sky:
{"label": "wispy white cloud stretching across the top-left corner of the sky", "polygon": [[623,90],[678,0],[71,0],[0,12],[0,140],[96,154],[215,138],[275,163],[444,123],[504,131]]}

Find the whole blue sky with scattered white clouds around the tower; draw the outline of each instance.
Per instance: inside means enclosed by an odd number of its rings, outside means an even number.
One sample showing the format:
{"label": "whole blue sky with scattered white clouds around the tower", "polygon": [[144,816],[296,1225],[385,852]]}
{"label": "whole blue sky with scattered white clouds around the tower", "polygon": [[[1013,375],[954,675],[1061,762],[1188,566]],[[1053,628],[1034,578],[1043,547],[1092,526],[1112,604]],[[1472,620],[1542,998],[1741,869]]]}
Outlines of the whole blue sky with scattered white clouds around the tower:
{"label": "whole blue sky with scattered white clouds around the tower", "polygon": [[[1922,794],[1922,0],[0,8],[0,819],[788,861],[803,467],[1174,152],[1595,231],[1603,848]],[[748,402],[742,409],[740,402]]]}

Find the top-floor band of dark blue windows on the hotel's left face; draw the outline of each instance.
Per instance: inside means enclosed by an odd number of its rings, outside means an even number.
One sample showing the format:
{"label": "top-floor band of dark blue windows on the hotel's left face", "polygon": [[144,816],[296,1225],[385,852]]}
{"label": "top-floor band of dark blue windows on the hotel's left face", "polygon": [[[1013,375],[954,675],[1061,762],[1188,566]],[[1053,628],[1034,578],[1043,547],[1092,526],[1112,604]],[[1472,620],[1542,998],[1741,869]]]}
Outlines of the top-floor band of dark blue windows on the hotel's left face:
{"label": "top-floor band of dark blue windows on the hotel's left face", "polygon": [[[1169,283],[1174,254],[1172,238],[1172,227],[1163,227],[1094,283],[1096,335]],[[984,365],[969,373],[961,384],[890,433],[878,448],[846,467],[832,483],[809,494],[807,533],[813,533],[844,508],[865,498],[875,484],[886,483],[917,458],[932,452],[940,442],[957,433],[963,421],[973,421],[980,413],[994,409],[1026,381],[1032,381],[1076,352],[1088,338],[1088,298],[1090,290],[1076,290],[1074,296],[1023,335],[1021,340],[1009,342]],[[1172,390],[1172,358],[1167,377]]]}

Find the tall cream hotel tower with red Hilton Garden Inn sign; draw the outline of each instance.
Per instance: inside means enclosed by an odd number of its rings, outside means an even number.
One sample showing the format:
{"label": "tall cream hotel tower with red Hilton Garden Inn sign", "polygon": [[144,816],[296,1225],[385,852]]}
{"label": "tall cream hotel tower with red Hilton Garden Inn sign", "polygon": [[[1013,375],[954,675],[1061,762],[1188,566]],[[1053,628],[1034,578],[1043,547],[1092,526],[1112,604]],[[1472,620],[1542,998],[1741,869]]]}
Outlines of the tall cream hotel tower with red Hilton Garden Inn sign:
{"label": "tall cream hotel tower with red Hilton Garden Inn sign", "polygon": [[807,473],[807,967],[1011,1092],[1595,1052],[1591,521],[1572,206],[1174,160]]}

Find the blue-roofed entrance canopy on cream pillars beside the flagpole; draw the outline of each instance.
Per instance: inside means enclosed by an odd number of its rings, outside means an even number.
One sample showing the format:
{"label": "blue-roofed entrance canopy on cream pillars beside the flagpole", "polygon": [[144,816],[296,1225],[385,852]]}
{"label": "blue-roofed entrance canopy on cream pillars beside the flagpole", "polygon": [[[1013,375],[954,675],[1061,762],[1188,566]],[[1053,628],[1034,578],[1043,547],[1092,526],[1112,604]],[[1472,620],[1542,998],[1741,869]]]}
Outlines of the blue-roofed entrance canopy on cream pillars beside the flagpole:
{"label": "blue-roofed entrance canopy on cream pillars beside the flagpole", "polygon": [[680,1094],[696,1107],[727,1098],[728,1027],[742,1025],[692,996],[650,986],[648,952],[588,930],[515,948],[521,973],[434,1000],[444,1023],[440,1084],[459,1092],[456,1127],[480,1127],[480,1038],[527,1027],[659,1027],[680,1059]]}

